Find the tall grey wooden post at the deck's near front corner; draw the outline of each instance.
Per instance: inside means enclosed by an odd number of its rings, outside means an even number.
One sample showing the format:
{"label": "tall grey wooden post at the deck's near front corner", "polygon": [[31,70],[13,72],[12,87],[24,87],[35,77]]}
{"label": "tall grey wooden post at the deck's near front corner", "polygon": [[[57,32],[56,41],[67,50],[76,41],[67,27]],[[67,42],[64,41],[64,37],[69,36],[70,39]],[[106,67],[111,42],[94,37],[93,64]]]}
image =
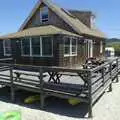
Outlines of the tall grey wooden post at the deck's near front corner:
{"label": "tall grey wooden post at the deck's near front corner", "polygon": [[92,118],[92,84],[91,84],[91,71],[88,72],[87,81],[88,81],[88,118]]}

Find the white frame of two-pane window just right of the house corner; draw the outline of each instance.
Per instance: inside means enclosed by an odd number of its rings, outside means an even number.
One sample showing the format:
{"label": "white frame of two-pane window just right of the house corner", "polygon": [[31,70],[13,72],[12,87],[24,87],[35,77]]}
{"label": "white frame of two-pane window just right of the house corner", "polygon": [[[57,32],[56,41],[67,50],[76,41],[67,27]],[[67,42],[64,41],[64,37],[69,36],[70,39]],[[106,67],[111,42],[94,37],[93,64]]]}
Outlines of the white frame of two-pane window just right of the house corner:
{"label": "white frame of two-pane window just right of the house corner", "polygon": [[[69,37],[65,37],[64,38],[64,57],[70,57],[70,56],[77,56],[77,49],[78,49],[78,40],[77,38],[74,38],[74,37],[70,37],[69,40],[70,40],[70,46],[69,46],[69,50],[70,50],[70,53],[68,54],[65,54],[65,40],[66,38],[69,38]],[[72,40],[75,40],[76,41],[76,51],[75,53],[72,52],[72,48],[73,48],[73,45],[72,45]]]}

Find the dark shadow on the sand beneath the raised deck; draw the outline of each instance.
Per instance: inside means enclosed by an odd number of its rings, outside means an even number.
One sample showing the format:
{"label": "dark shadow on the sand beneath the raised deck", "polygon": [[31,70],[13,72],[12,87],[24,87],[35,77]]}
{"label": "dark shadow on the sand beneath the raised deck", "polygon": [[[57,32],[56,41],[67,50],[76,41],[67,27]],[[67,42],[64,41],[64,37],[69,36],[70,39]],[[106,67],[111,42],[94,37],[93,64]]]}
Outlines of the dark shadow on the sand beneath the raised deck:
{"label": "dark shadow on the sand beneath the raised deck", "polygon": [[[27,92],[23,90],[18,90],[15,92],[15,104],[21,105],[27,108],[40,110],[40,103],[36,102],[34,104],[24,104],[24,99],[36,95],[36,93]],[[0,88],[0,101],[11,103],[10,100],[10,89],[8,87]],[[75,118],[85,118],[88,112],[88,105],[86,103],[81,103],[77,106],[72,106],[68,104],[67,100],[60,99],[56,97],[48,97],[45,100],[46,112],[51,112],[54,114],[59,114],[62,116],[75,117]]]}

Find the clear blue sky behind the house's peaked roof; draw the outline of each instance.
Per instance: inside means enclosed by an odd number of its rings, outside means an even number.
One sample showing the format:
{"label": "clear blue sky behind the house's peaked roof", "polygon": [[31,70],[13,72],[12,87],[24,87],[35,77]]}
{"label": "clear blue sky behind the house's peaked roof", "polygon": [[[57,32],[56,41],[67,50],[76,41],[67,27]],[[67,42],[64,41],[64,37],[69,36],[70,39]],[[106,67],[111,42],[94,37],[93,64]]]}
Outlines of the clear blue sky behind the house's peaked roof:
{"label": "clear blue sky behind the house's peaked roof", "polygon": [[[38,0],[0,0],[0,34],[16,32]],[[108,37],[120,38],[120,0],[53,0],[67,9],[91,10]]]}

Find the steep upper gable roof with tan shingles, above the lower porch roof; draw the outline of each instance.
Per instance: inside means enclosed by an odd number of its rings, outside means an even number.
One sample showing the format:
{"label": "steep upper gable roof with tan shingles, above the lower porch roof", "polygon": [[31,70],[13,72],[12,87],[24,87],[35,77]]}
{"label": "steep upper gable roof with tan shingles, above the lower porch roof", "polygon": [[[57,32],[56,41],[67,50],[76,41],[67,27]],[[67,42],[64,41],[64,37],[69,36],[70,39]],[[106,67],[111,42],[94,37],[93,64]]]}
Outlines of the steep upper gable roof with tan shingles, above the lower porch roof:
{"label": "steep upper gable roof with tan shingles, above the lower porch roof", "polygon": [[74,31],[76,31],[80,35],[88,35],[88,36],[94,36],[94,37],[100,37],[105,38],[105,34],[98,29],[90,29],[86,25],[84,25],[79,19],[76,17],[73,17],[69,14],[68,11],[63,10],[56,4],[54,4],[50,0],[39,0],[38,3],[35,5],[34,9],[28,16],[28,18],[25,20],[25,22],[20,27],[19,31],[23,30],[25,26],[27,25],[28,21],[31,19],[31,17],[35,14],[36,10],[39,8],[41,3],[44,3],[48,6],[53,12],[55,12],[60,18],[62,18],[69,26],[72,27]]}

